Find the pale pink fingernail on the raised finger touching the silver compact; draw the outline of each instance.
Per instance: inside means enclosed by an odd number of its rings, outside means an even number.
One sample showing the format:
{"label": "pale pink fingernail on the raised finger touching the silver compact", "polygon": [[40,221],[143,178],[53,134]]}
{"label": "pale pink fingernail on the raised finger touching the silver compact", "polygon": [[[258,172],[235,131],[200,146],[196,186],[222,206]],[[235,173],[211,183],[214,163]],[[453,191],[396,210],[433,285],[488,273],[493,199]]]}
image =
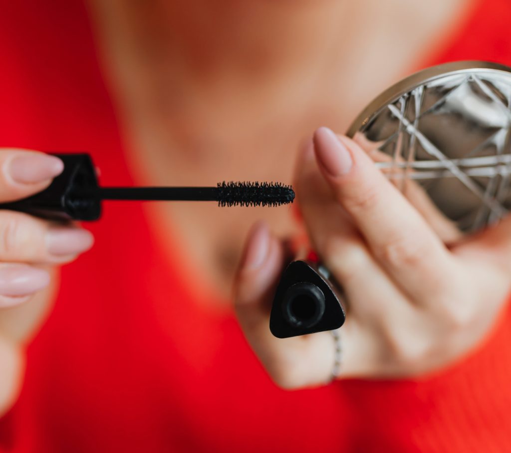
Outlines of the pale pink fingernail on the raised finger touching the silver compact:
{"label": "pale pink fingernail on the raised finger touching the silver compact", "polygon": [[346,174],[353,166],[350,151],[328,127],[320,127],[314,133],[314,151],[319,163],[332,176]]}

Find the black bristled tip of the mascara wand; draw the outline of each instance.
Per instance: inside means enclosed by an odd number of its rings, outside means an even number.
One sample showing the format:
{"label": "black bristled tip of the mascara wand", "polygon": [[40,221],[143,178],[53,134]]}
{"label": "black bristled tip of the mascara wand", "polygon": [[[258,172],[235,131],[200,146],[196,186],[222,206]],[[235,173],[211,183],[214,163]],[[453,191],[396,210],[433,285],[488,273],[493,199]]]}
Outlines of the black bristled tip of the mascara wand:
{"label": "black bristled tip of the mascara wand", "polygon": [[280,206],[292,203],[294,191],[281,183],[218,183],[218,206]]}

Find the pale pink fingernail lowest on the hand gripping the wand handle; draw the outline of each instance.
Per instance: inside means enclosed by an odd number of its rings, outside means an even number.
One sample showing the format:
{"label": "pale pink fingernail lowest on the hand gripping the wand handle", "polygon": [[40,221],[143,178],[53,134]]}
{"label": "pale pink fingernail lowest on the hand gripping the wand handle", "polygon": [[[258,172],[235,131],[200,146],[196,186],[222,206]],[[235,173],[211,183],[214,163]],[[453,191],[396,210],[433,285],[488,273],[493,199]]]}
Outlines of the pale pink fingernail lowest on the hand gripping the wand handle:
{"label": "pale pink fingernail lowest on the hand gripping the wand handle", "polygon": [[7,264],[0,267],[0,295],[27,296],[50,283],[47,271],[27,264]]}

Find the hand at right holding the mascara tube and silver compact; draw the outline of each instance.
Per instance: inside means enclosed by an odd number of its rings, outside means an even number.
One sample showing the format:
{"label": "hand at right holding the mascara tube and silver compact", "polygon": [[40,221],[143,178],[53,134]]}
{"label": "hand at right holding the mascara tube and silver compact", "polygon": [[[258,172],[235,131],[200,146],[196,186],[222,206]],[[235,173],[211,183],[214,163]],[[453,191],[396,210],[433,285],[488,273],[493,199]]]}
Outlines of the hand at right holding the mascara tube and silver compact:
{"label": "hand at right holding the mascara tube and silver compact", "polygon": [[[295,189],[312,246],[345,291],[341,377],[425,374],[483,341],[511,289],[511,218],[448,247],[437,213],[416,209],[354,141],[326,128],[301,159]],[[283,255],[281,241],[255,226],[236,311],[279,386],[316,386],[334,365],[330,333],[279,339],[268,328]]]}

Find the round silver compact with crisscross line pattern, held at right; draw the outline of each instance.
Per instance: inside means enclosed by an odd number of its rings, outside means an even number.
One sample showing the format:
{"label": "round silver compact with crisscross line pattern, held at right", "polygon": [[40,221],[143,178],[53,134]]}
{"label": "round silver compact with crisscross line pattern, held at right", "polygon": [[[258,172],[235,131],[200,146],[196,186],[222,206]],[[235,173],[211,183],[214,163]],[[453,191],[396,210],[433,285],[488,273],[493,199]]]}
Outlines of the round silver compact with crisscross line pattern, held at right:
{"label": "round silver compact with crisscross line pattern, held at right", "polygon": [[449,63],[389,88],[347,134],[453,238],[511,208],[510,105],[511,69]]}

